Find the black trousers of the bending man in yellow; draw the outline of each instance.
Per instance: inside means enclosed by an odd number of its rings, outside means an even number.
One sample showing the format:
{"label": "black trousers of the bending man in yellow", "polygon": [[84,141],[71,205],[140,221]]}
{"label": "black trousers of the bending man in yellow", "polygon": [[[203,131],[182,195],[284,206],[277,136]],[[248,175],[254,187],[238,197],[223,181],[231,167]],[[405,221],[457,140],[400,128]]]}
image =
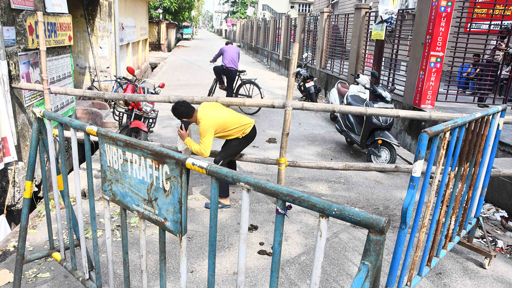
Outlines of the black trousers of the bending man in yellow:
{"label": "black trousers of the bending man in yellow", "polygon": [[[227,139],[214,159],[214,163],[231,170],[237,170],[237,157],[256,138],[256,125],[242,138]],[[229,197],[229,182],[219,182],[219,198]]]}

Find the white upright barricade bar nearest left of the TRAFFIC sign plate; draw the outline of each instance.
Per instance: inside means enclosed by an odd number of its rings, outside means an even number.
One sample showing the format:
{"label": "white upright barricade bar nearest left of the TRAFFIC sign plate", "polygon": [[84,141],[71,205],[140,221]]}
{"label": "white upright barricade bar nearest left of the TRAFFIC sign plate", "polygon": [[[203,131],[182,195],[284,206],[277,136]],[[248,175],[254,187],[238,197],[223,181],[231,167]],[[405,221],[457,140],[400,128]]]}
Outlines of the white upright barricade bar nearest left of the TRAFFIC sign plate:
{"label": "white upright barricade bar nearest left of the TRAFFIC sign plate", "polygon": [[[98,76],[99,77],[99,76]],[[64,147],[61,146],[61,149]],[[86,233],[83,229],[83,209],[82,209],[82,193],[80,186],[80,164],[78,163],[78,143],[76,141],[76,130],[71,128],[71,154],[73,157],[73,174],[75,177],[75,200],[78,218],[78,231],[80,232],[80,251],[82,257],[83,275],[89,279],[89,268],[87,266],[87,253],[86,250]],[[91,231],[92,232],[92,231]],[[71,242],[70,242],[71,243]]]}

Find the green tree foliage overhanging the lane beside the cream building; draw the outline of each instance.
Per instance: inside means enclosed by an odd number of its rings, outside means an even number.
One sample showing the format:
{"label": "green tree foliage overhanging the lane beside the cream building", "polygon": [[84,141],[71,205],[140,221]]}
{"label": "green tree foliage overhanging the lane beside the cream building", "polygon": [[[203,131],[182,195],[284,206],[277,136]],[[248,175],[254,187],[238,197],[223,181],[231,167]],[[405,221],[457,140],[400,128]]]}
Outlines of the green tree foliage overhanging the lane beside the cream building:
{"label": "green tree foliage overhanging the lane beside the cream building", "polygon": [[[203,11],[204,0],[158,0],[149,3],[150,19],[160,19],[159,9],[162,10],[162,19],[175,21],[180,24],[183,21],[192,21],[196,25]],[[192,11],[195,15],[192,16]]]}

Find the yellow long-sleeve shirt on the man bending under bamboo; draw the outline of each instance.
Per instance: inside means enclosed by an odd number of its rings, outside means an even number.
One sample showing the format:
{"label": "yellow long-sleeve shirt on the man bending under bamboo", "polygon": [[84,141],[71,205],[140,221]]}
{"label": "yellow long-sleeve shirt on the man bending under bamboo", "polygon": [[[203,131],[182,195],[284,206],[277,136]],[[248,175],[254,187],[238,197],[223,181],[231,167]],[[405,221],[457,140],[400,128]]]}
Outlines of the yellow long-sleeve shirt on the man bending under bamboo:
{"label": "yellow long-sleeve shirt on the man bending under bamboo", "polygon": [[217,102],[204,102],[197,110],[199,144],[185,139],[185,145],[199,156],[210,156],[214,137],[219,139],[242,138],[254,126],[254,119],[242,115]]}

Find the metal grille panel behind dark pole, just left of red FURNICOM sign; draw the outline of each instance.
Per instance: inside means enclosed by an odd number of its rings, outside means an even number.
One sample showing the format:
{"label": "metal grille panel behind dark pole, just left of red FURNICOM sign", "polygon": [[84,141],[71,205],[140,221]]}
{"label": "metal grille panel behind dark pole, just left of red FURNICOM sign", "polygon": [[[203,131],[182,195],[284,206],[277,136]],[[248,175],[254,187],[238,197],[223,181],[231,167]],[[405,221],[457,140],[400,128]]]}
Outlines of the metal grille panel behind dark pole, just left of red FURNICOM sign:
{"label": "metal grille panel behind dark pole, just left of red FURNICOM sign", "polygon": [[[386,29],[384,38],[384,57],[382,59],[380,83],[395,86],[396,90],[393,93],[398,96],[403,96],[406,85],[415,13],[415,9],[398,10],[395,29]],[[362,70],[367,75],[370,75],[373,70],[375,40],[371,36],[372,25],[375,23],[377,16],[377,10],[373,10],[367,17],[364,57],[361,60]]]}

